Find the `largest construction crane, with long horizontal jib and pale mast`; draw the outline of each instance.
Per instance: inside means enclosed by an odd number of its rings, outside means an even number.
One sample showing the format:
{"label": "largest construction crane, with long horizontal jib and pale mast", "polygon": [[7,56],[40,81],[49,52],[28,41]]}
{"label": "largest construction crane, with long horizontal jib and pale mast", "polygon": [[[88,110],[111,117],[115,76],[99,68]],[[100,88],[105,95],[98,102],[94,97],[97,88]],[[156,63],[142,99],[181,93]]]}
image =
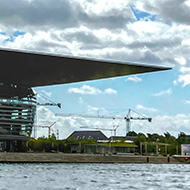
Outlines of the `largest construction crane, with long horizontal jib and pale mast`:
{"label": "largest construction crane, with long horizontal jib and pale mast", "polygon": [[[134,112],[136,113],[137,115],[139,115],[139,117],[132,117],[131,116],[131,112]],[[76,116],[76,117],[85,117],[85,118],[99,118],[99,119],[124,119],[126,121],[126,135],[128,134],[128,132],[130,131],[130,128],[131,128],[131,120],[147,120],[148,122],[151,122],[152,121],[152,118],[148,118],[132,109],[129,109],[128,110],[128,113],[126,116],[101,116],[98,115],[82,115],[82,114],[56,114],[56,116],[64,116],[64,117],[73,117],[73,116]]]}

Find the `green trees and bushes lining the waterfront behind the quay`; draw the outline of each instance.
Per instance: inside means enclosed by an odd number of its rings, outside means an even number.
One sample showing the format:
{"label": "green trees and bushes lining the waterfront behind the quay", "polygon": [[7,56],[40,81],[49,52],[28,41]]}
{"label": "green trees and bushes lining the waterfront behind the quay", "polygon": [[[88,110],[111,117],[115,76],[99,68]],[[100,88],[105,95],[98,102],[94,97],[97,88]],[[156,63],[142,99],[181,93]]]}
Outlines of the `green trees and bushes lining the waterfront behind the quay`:
{"label": "green trees and bushes lining the waterfront behind the quay", "polygon": [[[180,132],[178,137],[172,136],[170,133],[166,132],[163,135],[159,134],[143,134],[136,133],[134,131],[129,132],[128,136],[135,136],[133,139],[134,144],[137,145],[136,152],[141,153],[140,146],[141,143],[147,143],[148,153],[156,153],[155,144],[159,145],[159,154],[161,155],[174,155],[181,153],[181,144],[190,144],[190,137],[183,132]],[[124,139],[121,139],[124,142]],[[33,152],[64,152],[70,153],[71,146],[76,144],[96,144],[97,142],[93,139],[64,139],[57,140],[55,135],[50,138],[40,137],[38,139],[30,139],[27,143],[23,143],[23,151],[33,151]],[[119,145],[119,142],[118,142]],[[167,146],[167,152],[166,147]],[[145,152],[145,147],[143,146],[143,152]]]}

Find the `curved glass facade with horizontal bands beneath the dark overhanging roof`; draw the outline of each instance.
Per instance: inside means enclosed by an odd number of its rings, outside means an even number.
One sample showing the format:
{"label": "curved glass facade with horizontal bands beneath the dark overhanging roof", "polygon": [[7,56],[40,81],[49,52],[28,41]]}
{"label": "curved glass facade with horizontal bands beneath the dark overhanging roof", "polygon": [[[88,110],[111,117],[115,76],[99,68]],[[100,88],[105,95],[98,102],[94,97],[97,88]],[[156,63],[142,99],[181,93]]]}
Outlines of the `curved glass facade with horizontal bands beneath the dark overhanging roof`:
{"label": "curved glass facade with horizontal bands beneath the dark overhanging roof", "polygon": [[35,113],[31,88],[0,82],[0,151],[21,151],[32,133]]}

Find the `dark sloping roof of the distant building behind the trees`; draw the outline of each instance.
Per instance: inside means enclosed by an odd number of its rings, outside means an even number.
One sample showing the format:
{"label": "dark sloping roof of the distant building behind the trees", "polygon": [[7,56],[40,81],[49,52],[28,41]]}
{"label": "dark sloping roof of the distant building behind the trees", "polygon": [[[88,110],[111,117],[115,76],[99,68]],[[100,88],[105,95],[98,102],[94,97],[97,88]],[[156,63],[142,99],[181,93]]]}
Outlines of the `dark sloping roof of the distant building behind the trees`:
{"label": "dark sloping roof of the distant building behind the trees", "polygon": [[109,139],[101,131],[74,131],[68,138],[94,139],[98,142],[108,141]]}

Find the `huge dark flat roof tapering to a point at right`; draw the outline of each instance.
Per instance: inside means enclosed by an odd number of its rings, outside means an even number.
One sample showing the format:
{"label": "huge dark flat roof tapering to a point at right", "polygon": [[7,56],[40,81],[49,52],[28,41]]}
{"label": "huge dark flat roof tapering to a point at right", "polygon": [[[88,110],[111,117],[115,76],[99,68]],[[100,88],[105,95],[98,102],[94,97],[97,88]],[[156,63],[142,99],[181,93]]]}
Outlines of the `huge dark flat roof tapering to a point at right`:
{"label": "huge dark flat roof tapering to a point at right", "polygon": [[110,60],[99,60],[0,49],[0,82],[28,87],[72,83],[167,70]]}

